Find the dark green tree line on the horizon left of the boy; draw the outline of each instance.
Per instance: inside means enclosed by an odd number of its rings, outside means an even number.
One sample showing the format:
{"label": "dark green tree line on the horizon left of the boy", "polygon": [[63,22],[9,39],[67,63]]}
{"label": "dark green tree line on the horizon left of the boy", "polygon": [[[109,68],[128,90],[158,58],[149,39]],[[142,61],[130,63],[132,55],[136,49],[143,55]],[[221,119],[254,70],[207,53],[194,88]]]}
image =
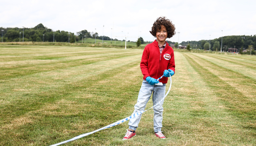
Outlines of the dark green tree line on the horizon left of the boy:
{"label": "dark green tree line on the horizon left of the boy", "polygon": [[[3,42],[19,42],[19,41],[33,41],[33,42],[70,42],[74,43],[76,41],[81,40],[86,36],[86,38],[96,38],[102,39],[102,36],[98,36],[98,33],[95,32],[88,32],[87,30],[82,30],[79,32],[76,32],[77,35],[75,35],[72,32],[67,31],[52,31],[52,29],[49,29],[43,24],[38,24],[34,28],[3,28],[0,27],[1,30],[3,30],[0,33],[0,41]],[[24,32],[24,33],[23,33]],[[93,34],[92,34],[93,33]],[[3,34],[3,36],[2,36]],[[24,36],[24,39],[23,39]],[[104,36],[104,40],[111,40],[111,38]],[[114,40],[114,39],[112,39]],[[118,39],[115,39],[118,41]]]}

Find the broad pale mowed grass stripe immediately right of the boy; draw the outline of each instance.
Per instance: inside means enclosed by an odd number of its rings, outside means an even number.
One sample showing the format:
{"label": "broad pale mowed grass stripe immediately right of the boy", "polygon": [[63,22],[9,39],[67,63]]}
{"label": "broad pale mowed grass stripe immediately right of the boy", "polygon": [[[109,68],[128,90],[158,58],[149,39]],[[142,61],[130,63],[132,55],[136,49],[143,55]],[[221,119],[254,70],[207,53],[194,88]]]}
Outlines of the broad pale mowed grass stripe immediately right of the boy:
{"label": "broad pale mowed grass stripe immediately right of the boy", "polygon": [[219,125],[229,120],[223,118],[218,98],[183,53],[175,52],[175,64],[171,98],[165,101],[164,128],[176,143],[167,144],[221,145],[225,136]]}

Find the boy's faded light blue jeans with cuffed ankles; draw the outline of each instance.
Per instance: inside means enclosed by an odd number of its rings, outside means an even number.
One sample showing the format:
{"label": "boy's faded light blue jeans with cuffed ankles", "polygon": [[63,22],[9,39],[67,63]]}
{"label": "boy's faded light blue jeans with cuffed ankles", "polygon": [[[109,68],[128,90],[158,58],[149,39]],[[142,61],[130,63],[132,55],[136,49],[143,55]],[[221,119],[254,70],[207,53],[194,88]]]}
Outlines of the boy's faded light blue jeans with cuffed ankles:
{"label": "boy's faded light blue jeans with cuffed ankles", "polygon": [[[136,105],[134,106],[134,113],[142,112],[146,108],[146,104],[149,101],[151,94],[153,105],[156,105],[163,97],[165,96],[165,84],[163,85],[150,85],[146,80],[143,80],[140,92],[138,95],[138,100]],[[163,121],[163,103],[164,100],[161,101],[154,109],[154,131],[161,131],[162,121]],[[136,130],[138,128],[138,124],[140,122],[141,115],[136,116],[129,121],[129,129]]]}

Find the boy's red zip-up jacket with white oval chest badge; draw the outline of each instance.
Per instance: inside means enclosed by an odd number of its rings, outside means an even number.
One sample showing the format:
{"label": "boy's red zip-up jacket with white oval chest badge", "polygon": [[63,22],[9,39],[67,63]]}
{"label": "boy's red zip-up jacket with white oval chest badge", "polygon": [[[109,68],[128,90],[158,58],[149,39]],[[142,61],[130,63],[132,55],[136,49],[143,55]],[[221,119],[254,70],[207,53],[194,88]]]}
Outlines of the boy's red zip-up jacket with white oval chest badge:
{"label": "boy's red zip-up jacket with white oval chest badge", "polygon": [[[171,69],[175,72],[175,61],[173,48],[166,42],[166,46],[163,52],[160,54],[157,41],[145,46],[140,63],[143,79],[150,76],[154,79],[158,79],[164,74],[164,70]],[[168,81],[167,77],[163,77],[159,80],[163,84]]]}

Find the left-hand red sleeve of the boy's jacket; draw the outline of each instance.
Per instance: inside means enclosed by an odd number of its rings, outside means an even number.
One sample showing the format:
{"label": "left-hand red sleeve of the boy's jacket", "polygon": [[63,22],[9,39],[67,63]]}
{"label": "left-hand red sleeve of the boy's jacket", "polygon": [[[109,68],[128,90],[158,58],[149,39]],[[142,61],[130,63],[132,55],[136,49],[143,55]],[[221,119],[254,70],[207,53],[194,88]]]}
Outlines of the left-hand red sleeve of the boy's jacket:
{"label": "left-hand red sleeve of the boy's jacket", "polygon": [[150,76],[148,72],[148,59],[149,59],[149,51],[145,47],[142,54],[141,63],[140,63],[140,69],[143,74],[144,80],[146,80],[146,77]]}

